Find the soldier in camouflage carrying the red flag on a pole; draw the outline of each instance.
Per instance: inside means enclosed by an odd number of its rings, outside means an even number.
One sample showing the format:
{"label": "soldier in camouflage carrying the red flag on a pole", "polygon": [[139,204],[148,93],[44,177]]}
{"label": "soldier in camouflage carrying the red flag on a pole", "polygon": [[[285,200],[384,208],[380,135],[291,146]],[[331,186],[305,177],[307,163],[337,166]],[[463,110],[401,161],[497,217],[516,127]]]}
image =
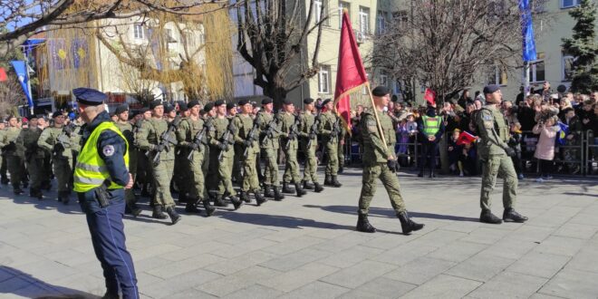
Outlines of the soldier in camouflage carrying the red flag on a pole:
{"label": "soldier in camouflage carrying the red flag on a pole", "polygon": [[[394,135],[391,117],[383,113],[391,101],[391,91],[385,86],[374,88],[373,94],[374,107],[378,111],[380,126],[378,127],[374,111],[366,111],[362,114],[362,134],[363,134],[363,178],[362,194],[359,198],[359,209],[357,221],[357,230],[365,233],[374,233],[375,227],[372,227],[368,221],[368,212],[370,210],[371,198],[376,192],[376,178],[380,178],[384,188],[389,194],[391,205],[397,217],[400,220],[400,227],[403,234],[410,234],[411,231],[420,230],[424,225],[415,223],[410,219],[405,209],[405,203],[400,196],[399,178],[395,175],[397,168],[397,158],[394,155],[394,140],[389,139]],[[382,141],[381,134],[385,137],[386,144]]]}

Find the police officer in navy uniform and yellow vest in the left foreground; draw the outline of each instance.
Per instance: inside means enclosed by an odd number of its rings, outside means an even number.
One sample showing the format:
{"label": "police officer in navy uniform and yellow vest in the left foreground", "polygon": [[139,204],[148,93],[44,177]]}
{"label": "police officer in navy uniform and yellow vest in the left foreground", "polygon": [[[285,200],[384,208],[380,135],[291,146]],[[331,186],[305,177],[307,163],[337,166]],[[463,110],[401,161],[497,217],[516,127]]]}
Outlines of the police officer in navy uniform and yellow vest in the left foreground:
{"label": "police officer in navy uniform and yellow vest in the left foreground", "polygon": [[125,200],[123,188],[133,186],[127,169],[129,149],[126,138],[104,111],[102,92],[87,88],[72,91],[78,110],[87,123],[83,147],[77,158],[73,189],[86,214],[92,244],[106,280],[103,298],[139,298],[133,260],[124,236]]}

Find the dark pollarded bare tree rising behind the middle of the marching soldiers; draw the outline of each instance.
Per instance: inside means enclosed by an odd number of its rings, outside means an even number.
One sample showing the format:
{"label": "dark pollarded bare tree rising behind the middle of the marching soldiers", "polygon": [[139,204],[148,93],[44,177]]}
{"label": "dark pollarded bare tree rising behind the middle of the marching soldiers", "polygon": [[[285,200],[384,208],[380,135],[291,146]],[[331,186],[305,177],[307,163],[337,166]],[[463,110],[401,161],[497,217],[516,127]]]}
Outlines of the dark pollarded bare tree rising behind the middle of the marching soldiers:
{"label": "dark pollarded bare tree rising behind the middle of the marching soldiers", "polygon": [[[236,9],[237,51],[256,70],[254,84],[280,105],[286,93],[301,85],[318,72],[322,26],[327,20],[324,6],[314,12],[314,0],[309,1],[307,16],[303,18],[304,0],[246,2]],[[314,14],[319,14],[319,22]],[[298,59],[309,34],[317,30],[311,65],[305,70]],[[303,62],[301,62],[303,63]]]}

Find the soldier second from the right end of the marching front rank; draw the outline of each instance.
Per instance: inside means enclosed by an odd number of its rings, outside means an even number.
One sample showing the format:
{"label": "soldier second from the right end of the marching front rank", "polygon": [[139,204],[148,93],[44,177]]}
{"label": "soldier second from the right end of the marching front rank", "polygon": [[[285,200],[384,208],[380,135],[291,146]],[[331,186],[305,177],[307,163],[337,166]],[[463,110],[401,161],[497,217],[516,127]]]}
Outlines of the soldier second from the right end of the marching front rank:
{"label": "soldier second from the right end of the marching front rank", "polygon": [[[313,99],[304,100],[304,112],[299,115],[300,130],[299,135],[303,139],[302,146],[305,153],[304,178],[302,179],[304,189],[322,192],[323,187],[318,183],[317,170],[318,160],[315,158],[315,149],[318,146],[318,127],[320,125],[320,115],[313,116]],[[313,186],[309,185],[309,181]]]}

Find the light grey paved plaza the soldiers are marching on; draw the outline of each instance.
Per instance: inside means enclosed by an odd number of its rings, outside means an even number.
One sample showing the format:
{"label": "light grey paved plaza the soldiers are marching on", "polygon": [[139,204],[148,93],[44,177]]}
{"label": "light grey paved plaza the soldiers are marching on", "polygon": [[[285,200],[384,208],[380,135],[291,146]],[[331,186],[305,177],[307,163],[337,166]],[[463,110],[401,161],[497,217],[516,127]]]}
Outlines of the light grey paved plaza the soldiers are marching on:
{"label": "light grey paved plaza the soldiers are marching on", "polygon": [[[147,298],[596,298],[598,180],[519,184],[526,224],[481,224],[480,178],[434,180],[401,173],[410,216],[403,236],[386,191],[372,201],[375,234],[354,230],[361,170],[342,188],[176,226],[125,220],[140,294]],[[497,186],[494,212],[502,215]],[[54,196],[52,192],[49,194]],[[74,196],[72,197],[74,198]],[[182,208],[180,208],[182,211]],[[79,205],[0,190],[0,297],[104,293]]]}

